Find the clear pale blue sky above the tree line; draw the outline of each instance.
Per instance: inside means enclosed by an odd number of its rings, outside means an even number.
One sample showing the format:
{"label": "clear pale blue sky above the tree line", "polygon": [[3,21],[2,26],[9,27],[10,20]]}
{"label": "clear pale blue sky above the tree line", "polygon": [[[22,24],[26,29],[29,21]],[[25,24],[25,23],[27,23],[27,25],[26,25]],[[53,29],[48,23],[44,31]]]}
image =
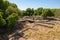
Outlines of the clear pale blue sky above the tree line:
{"label": "clear pale blue sky above the tree line", "polygon": [[60,0],[9,0],[11,3],[17,4],[19,9],[26,8],[60,8]]}

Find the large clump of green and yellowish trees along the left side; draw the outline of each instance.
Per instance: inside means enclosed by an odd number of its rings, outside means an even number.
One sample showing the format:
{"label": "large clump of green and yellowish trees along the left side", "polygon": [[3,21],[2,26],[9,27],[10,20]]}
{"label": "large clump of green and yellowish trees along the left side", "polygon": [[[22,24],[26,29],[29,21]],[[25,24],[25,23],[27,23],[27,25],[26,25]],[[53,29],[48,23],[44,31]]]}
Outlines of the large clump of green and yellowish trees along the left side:
{"label": "large clump of green and yellowish trees along the left side", "polygon": [[0,0],[0,26],[12,27],[15,26],[16,19],[18,19],[19,9],[14,3],[7,0]]}

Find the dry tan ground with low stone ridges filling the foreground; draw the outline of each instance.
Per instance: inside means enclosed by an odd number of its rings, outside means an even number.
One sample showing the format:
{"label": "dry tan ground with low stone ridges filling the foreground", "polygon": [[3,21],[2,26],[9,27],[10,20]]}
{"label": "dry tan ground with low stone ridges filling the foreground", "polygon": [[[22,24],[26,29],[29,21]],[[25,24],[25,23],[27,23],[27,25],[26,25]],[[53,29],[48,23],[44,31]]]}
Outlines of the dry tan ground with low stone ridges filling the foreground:
{"label": "dry tan ground with low stone ridges filling the foreground", "polygon": [[[26,19],[27,20],[27,19]],[[22,21],[23,22],[23,21]],[[35,20],[35,22],[23,22],[24,28],[10,35],[10,40],[60,40],[60,21]]]}

